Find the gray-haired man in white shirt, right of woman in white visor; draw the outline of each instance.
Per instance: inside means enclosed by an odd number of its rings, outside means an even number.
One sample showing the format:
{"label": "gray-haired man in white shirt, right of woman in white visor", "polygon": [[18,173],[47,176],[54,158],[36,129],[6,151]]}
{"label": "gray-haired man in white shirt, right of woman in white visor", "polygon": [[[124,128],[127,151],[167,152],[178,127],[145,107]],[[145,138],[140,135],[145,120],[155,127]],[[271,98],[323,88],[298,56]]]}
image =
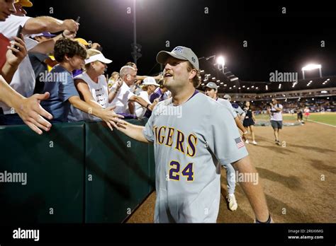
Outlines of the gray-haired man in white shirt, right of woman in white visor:
{"label": "gray-haired man in white shirt, right of woman in white visor", "polygon": [[118,81],[110,90],[112,101],[110,106],[116,106],[114,112],[119,114],[135,114],[133,102],[152,111],[152,104],[130,91],[137,77],[137,71],[132,66],[123,66],[120,71],[121,81]]}

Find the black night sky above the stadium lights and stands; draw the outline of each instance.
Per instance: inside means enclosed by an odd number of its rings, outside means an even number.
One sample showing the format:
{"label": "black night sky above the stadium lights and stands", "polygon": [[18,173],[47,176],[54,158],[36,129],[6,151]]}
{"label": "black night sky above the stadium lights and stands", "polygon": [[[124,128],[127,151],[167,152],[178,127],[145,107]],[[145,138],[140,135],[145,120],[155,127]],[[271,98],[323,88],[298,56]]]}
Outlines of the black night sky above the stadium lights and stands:
{"label": "black night sky above the stadium lights and stands", "polygon": [[[133,13],[127,13],[128,7],[133,11],[133,0],[31,1],[34,6],[26,8],[28,16],[81,16],[77,37],[102,45],[103,54],[113,60],[108,74],[133,61]],[[136,1],[137,42],[142,45],[138,74],[158,73],[157,52],[182,45],[191,47],[198,57],[222,54],[225,66],[241,81],[269,81],[269,73],[276,70],[301,76],[301,67],[309,62],[322,64],[323,76],[336,75],[335,8],[327,1],[295,1],[295,5],[289,1]],[[200,62],[201,69],[214,63]]]}

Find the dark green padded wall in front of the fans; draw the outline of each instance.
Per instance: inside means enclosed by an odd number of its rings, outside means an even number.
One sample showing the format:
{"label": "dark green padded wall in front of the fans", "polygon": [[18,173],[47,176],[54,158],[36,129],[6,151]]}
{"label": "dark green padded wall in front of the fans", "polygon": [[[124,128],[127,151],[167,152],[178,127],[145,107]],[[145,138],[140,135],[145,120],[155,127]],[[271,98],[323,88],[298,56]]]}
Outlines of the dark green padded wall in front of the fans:
{"label": "dark green padded wall in front of the fans", "polygon": [[0,147],[0,225],[121,223],[154,189],[153,146],[102,122],[53,124],[41,136],[0,127]]}

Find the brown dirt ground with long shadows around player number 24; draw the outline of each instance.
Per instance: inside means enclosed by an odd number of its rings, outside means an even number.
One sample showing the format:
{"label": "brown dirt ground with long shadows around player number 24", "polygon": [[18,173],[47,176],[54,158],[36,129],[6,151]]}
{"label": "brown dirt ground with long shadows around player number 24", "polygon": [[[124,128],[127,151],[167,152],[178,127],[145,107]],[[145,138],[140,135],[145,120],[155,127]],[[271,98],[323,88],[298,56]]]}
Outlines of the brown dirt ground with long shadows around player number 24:
{"label": "brown dirt ground with long shadows around player number 24", "polygon": [[[255,132],[258,145],[247,144],[247,149],[259,172],[274,221],[336,223],[336,128],[314,122],[284,127],[280,139],[286,141],[286,147],[274,144],[271,127],[255,127]],[[252,223],[253,211],[240,185],[235,192],[238,209],[228,210],[225,179],[222,170],[218,223]],[[127,222],[152,223],[154,205],[155,192]]]}

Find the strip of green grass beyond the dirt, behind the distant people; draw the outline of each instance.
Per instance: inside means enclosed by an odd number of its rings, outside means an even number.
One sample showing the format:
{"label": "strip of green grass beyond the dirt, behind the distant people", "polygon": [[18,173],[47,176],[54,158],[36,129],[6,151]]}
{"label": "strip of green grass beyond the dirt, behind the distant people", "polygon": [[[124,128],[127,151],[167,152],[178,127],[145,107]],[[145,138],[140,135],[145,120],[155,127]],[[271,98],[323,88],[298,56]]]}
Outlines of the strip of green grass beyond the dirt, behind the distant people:
{"label": "strip of green grass beyond the dirt, behind the distant people", "polygon": [[[257,120],[262,121],[269,121],[268,115],[256,115],[255,116]],[[283,115],[284,121],[296,121],[296,114],[289,115],[284,114]],[[303,119],[306,120],[306,118],[303,115]],[[323,113],[310,113],[308,120],[313,120],[314,122],[321,122],[325,124],[331,124],[332,126],[336,126],[336,113],[334,112],[325,112]]]}

